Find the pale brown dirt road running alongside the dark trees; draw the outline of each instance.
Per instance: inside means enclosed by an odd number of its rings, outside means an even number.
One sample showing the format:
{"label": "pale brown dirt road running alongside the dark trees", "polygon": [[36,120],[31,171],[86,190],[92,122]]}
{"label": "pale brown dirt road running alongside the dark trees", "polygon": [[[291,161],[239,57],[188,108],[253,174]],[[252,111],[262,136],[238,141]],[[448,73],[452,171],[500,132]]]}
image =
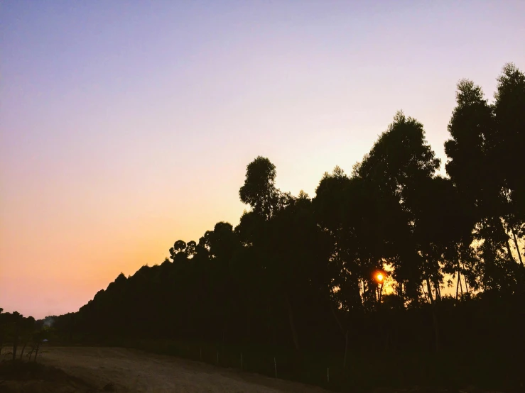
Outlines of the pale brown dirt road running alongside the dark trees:
{"label": "pale brown dirt road running alongside the dark trees", "polygon": [[102,389],[116,392],[326,392],[318,387],[276,380],[192,360],[122,348],[48,347],[41,362]]}

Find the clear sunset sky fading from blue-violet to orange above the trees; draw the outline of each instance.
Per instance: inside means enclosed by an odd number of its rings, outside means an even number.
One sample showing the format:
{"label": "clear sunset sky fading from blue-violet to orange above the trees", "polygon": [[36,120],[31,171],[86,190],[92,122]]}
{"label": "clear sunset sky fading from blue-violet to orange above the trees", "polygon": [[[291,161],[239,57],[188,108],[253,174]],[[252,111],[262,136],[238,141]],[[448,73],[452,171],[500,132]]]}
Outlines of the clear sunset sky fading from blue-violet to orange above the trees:
{"label": "clear sunset sky fading from blue-violet to orange above the trees", "polygon": [[0,307],[77,311],[239,222],[246,165],[315,195],[396,113],[445,160],[455,84],[525,69],[525,1],[0,2]]}

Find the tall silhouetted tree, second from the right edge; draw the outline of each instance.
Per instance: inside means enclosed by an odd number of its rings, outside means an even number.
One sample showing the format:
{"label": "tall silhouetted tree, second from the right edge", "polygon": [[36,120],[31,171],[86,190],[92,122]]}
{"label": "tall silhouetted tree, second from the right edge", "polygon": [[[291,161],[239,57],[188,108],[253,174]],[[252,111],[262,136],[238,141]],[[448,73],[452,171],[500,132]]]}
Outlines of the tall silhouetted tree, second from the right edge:
{"label": "tall silhouetted tree, second from the right edge", "polygon": [[[470,80],[462,79],[458,83],[456,101],[448,125],[451,139],[445,142],[445,153],[449,157],[446,170],[472,217],[472,229],[483,261],[482,282],[486,287],[509,287],[515,279],[516,261],[505,228],[504,182],[498,165],[494,164],[502,154],[498,153],[497,121],[482,89]],[[510,265],[502,264],[504,260]],[[506,273],[496,274],[501,269]],[[494,282],[495,277],[506,282]]]}

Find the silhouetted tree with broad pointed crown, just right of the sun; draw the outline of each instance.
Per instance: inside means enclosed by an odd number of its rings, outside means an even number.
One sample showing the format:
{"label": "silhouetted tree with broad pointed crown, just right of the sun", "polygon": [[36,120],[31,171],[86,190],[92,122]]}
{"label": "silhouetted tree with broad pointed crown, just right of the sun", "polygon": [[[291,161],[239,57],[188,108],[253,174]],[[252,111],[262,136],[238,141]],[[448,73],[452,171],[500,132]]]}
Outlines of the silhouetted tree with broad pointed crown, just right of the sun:
{"label": "silhouetted tree with broad pointed crown, just right of the sun", "polygon": [[[429,288],[432,283],[436,295],[439,294],[440,275],[435,262],[421,253],[415,238],[421,196],[439,165],[440,160],[426,143],[423,125],[398,112],[354,170],[355,177],[371,184],[378,203],[389,206],[379,218],[389,226],[389,231],[382,233],[385,252],[376,258],[386,258],[394,267],[394,278],[402,288],[400,293],[411,301],[418,301],[423,279]],[[434,268],[432,272],[428,268],[425,271],[423,265]]]}

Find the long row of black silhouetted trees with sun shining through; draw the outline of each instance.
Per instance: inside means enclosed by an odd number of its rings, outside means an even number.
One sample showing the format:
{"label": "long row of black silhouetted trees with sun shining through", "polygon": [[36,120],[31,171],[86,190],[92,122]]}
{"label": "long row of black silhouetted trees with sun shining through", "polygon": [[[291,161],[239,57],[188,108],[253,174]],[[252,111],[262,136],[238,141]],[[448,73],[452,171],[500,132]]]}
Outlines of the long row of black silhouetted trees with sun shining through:
{"label": "long row of black silhouetted trees with sun shining through", "polygon": [[[494,101],[463,79],[446,176],[403,112],[315,196],[247,165],[236,227],[219,222],[169,258],[121,274],[64,336],[178,338],[347,356],[370,351],[524,350],[525,76],[507,64]],[[517,347],[516,347],[517,345]]]}

